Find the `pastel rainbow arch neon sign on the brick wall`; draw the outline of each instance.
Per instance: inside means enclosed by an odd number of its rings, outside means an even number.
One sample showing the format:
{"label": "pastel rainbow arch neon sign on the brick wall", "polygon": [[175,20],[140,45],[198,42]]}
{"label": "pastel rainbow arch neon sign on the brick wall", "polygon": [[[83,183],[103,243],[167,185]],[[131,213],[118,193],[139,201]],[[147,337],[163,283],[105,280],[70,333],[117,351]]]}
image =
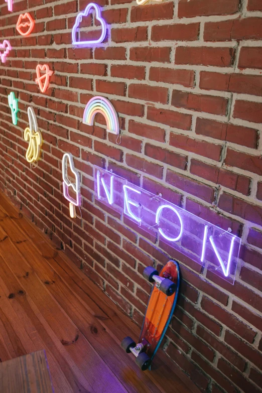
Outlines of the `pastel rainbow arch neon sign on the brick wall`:
{"label": "pastel rainbow arch neon sign on the brick wall", "polygon": [[101,113],[104,116],[108,133],[119,134],[117,113],[108,99],[100,96],[91,98],[84,110],[83,123],[93,125],[96,113]]}

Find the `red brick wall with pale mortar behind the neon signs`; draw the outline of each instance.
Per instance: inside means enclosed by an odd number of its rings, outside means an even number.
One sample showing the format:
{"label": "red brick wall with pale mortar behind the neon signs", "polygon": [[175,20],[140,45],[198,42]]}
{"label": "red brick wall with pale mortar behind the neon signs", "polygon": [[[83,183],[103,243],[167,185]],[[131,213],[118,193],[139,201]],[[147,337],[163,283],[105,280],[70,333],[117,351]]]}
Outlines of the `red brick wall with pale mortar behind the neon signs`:
{"label": "red brick wall with pale mortar behind the neon signs", "polygon": [[[0,8],[0,41],[14,48],[0,66],[2,189],[139,324],[151,289],[144,267],[176,251],[94,201],[93,165],[231,227],[243,239],[235,285],[179,258],[181,295],[164,350],[207,391],[261,391],[262,1],[99,0],[110,33],[96,49],[71,46],[87,1],[44,3],[15,0],[12,14],[3,1]],[[15,30],[25,11],[36,20],[28,38]],[[38,63],[55,71],[46,94],[35,84]],[[100,93],[118,112],[119,146],[102,118],[82,124],[85,104]],[[45,141],[37,168],[25,160],[29,104]],[[81,173],[82,219],[70,219],[62,195],[64,152]]]}

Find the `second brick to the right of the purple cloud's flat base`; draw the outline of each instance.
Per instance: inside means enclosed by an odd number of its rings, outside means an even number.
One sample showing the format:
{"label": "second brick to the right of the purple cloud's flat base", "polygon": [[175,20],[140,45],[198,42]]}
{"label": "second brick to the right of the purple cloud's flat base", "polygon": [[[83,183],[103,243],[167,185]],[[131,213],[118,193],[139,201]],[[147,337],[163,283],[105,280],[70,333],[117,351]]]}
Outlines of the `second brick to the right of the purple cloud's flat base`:
{"label": "second brick to the right of the purple cloud's flat base", "polygon": [[152,41],[195,41],[198,39],[199,23],[153,26]]}

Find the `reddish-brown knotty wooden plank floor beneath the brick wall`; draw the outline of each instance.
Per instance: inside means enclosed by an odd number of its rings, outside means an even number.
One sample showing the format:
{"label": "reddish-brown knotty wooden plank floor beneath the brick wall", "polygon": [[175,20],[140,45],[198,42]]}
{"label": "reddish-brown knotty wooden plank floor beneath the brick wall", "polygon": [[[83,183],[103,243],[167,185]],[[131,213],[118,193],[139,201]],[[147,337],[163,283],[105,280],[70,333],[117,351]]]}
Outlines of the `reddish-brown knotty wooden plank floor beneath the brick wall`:
{"label": "reddish-brown knotty wooden plank floor beneath the brick wall", "polygon": [[120,347],[139,332],[0,193],[1,361],[45,349],[55,393],[198,391],[161,351],[152,371],[140,371]]}

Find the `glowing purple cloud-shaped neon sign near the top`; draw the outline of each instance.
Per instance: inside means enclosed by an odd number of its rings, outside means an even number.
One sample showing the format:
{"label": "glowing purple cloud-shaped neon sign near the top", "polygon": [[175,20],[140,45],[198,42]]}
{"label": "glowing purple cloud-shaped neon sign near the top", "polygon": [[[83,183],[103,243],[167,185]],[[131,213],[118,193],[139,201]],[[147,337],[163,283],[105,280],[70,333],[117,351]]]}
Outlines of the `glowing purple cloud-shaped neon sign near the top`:
{"label": "glowing purple cloud-shaped neon sign near the top", "polygon": [[[79,27],[80,23],[82,22],[83,17],[87,17],[89,11],[92,8],[94,8],[95,10],[96,19],[101,23],[101,27],[102,27],[101,36],[98,38],[98,40],[76,41],[76,29]],[[100,44],[101,42],[103,42],[105,38],[105,34],[106,34],[106,25],[103,18],[101,18],[100,8],[95,3],[88,4],[88,6],[86,6],[85,8],[85,11],[80,12],[76,17],[75,24],[72,30],[72,44],[77,46],[91,46],[91,45]]]}

